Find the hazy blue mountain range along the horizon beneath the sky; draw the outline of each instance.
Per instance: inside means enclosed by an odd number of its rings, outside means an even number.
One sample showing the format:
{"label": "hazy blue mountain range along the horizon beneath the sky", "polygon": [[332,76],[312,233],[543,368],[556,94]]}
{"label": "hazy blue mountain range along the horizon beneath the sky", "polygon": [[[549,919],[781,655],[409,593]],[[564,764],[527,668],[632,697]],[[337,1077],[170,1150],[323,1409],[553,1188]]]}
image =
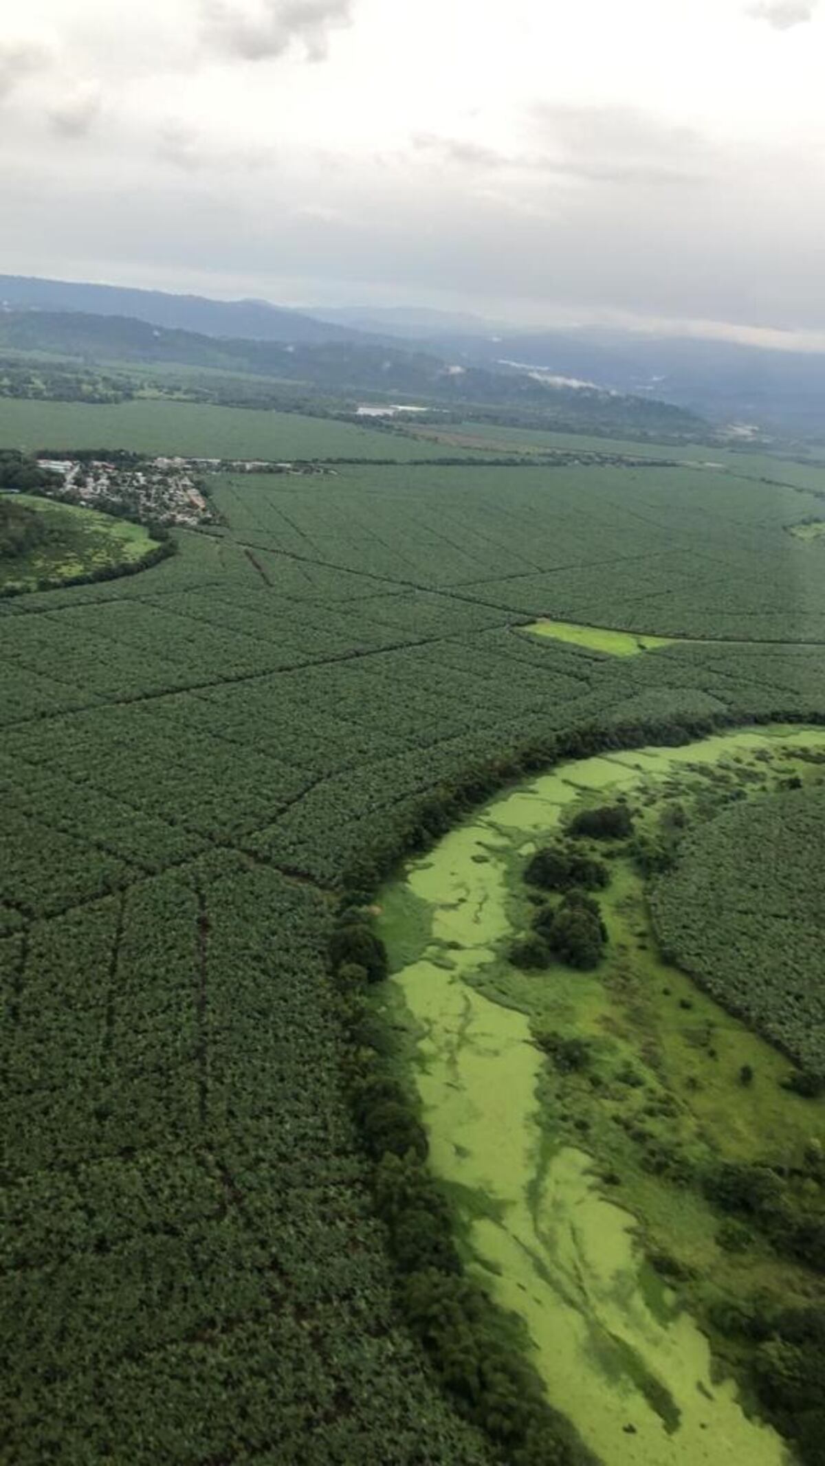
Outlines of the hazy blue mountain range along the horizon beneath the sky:
{"label": "hazy blue mountain range along the horizon beneath the sky", "polygon": [[[607,410],[608,394],[618,393],[637,403],[630,415],[645,424],[645,431],[654,431],[648,422],[655,418],[667,431],[656,406],[664,403],[717,425],[749,422],[768,432],[825,438],[825,353],[596,328],[514,330],[466,312],[428,308],[319,306],[306,312],[267,301],[212,301],[160,290],[0,276],[3,339],[10,343],[15,334],[23,349],[23,337],[34,340],[37,331],[44,333],[47,327],[29,323],[12,328],[10,318],[19,312],[51,317],[48,331],[54,346],[44,349],[92,353],[113,349],[113,333],[107,337],[103,327],[91,323],[95,317],[116,317],[120,323],[145,323],[169,333],[155,359],[232,364],[234,371],[277,369],[280,375],[289,365],[290,378],[302,375],[317,386],[435,393],[450,402],[491,402],[498,390],[503,391],[498,400],[544,402],[547,406],[552,391],[555,408],[570,397],[570,409],[582,418],[588,405],[589,409],[599,405],[607,421],[618,416],[615,409]],[[66,312],[82,315],[82,327],[79,321],[73,327],[59,324],[57,317]],[[139,340],[123,324],[117,333],[126,334],[129,350],[136,353],[129,359],[149,359],[152,343],[148,337]],[[174,333],[202,340],[196,346],[192,340],[176,342]],[[82,345],[78,345],[81,337]],[[210,347],[207,339],[220,342],[220,350]],[[254,349],[254,343],[289,346],[293,356],[308,349],[309,355],[286,364],[283,355],[267,356]],[[337,356],[331,350],[334,346],[340,349]],[[353,371],[349,384],[344,368]],[[451,369],[451,383],[445,368]],[[500,384],[497,388],[491,377]],[[503,378],[506,387],[501,387]],[[475,397],[469,396],[470,388]],[[668,421],[673,431],[680,431],[678,418]],[[686,422],[687,418],[681,419],[683,430]]]}

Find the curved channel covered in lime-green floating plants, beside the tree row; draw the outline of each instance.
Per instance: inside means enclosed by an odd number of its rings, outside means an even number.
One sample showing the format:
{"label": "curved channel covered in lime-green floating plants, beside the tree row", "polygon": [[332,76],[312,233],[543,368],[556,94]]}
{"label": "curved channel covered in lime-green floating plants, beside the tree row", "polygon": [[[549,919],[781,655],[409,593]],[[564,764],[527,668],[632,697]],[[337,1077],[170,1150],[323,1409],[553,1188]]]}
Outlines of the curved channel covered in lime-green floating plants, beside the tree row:
{"label": "curved channel covered in lime-green floating plants, beside the tree row", "polygon": [[[787,1061],[659,959],[629,861],[617,862],[605,906],[608,970],[516,973],[506,960],[523,902],[514,869],[576,803],[627,796],[655,812],[661,798],[690,800],[741,780],[758,798],[788,774],[813,777],[810,749],[825,751],[824,730],[769,727],[563,764],[494,799],[382,893],[393,978],[380,1001],[406,1035],[431,1165],[453,1199],[467,1265],[522,1319],[551,1403],[605,1466],[778,1466],[790,1457],[746,1412],[736,1382],[718,1378],[689,1306],[646,1261],[635,1199],[649,1205],[655,1226],[662,1187],[605,1183],[604,1151],[588,1146],[588,1126],[576,1141],[576,1117],[571,1127],[570,1114],[563,1121],[557,1113],[563,1100],[547,1091],[550,1063],[535,1042],[536,1004],[564,1031],[595,1035],[636,1063],[639,1014],[655,1029],[674,1086],[699,1063],[689,1009],[692,1022],[715,1025],[714,1060],[746,1056],[771,1079]],[[645,1076],[643,1063],[642,1053]],[[777,1123],[778,1086],[762,1085],[763,1100],[755,1088],[747,1114],[728,1114],[714,1083],[693,1083],[684,1123],[717,1123],[730,1135],[728,1154],[746,1154],[753,1129]],[[711,1223],[700,1198],[678,1196],[664,1227],[689,1248]]]}

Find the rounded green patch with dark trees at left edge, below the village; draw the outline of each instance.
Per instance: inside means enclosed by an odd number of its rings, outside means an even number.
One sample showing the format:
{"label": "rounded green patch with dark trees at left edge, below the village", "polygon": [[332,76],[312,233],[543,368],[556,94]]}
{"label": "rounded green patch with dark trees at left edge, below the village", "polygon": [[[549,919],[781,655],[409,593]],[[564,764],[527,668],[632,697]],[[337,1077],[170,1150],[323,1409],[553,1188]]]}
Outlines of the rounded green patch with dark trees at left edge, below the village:
{"label": "rounded green patch with dark trees at left edge, below the village", "polygon": [[163,531],[29,494],[0,497],[0,597],[113,581],[171,553]]}

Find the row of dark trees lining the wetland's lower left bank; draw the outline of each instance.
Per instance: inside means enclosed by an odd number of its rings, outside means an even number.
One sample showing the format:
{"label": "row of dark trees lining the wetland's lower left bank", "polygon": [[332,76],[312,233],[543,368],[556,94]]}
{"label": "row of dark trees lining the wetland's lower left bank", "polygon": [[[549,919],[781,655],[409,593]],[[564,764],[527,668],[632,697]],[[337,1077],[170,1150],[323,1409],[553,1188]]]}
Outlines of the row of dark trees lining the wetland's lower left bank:
{"label": "row of dark trees lining the wetland's lower left bank", "polygon": [[595,1466],[488,1294],[463,1272],[448,1205],[426,1167],[415,1098],[391,1070],[368,990],[387,975],[363,906],[344,902],[330,940],[352,1111],[399,1271],[399,1303],[457,1410],[513,1466]]}

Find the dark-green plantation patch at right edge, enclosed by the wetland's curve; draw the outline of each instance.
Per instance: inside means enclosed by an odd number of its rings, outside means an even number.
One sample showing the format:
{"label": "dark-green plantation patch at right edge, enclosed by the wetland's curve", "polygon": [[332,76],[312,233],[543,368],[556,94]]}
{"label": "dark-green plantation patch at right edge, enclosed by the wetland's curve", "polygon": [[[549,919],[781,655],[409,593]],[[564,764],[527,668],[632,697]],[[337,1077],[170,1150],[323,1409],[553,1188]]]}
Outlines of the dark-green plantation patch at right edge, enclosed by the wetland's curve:
{"label": "dark-green plantation patch at right edge, enclosed by the wetland's curve", "polygon": [[[785,789],[687,836],[656,881],[662,947],[825,1086],[825,790]],[[802,1089],[800,1089],[802,1085]]]}

